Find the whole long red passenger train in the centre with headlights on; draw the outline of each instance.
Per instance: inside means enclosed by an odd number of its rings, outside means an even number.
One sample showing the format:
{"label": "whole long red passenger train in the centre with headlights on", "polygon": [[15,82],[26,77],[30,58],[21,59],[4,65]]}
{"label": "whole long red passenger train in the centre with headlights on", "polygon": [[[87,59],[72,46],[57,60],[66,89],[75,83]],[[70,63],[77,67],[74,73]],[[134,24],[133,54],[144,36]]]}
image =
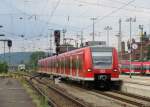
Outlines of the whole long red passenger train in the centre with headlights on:
{"label": "whole long red passenger train in the centre with headlights on", "polygon": [[118,55],[112,47],[84,47],[38,61],[39,73],[81,83],[109,86],[118,79]]}

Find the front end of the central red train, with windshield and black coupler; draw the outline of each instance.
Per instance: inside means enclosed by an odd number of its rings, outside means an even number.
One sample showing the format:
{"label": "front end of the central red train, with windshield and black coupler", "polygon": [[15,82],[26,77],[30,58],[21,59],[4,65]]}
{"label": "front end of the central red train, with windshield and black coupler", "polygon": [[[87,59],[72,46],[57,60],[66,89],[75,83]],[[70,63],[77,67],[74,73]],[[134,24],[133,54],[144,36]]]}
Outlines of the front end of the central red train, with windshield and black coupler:
{"label": "front end of the central red train, with windshield and black coupler", "polygon": [[111,81],[118,80],[118,55],[112,47],[92,47],[92,60],[94,80],[99,85],[109,85]]}

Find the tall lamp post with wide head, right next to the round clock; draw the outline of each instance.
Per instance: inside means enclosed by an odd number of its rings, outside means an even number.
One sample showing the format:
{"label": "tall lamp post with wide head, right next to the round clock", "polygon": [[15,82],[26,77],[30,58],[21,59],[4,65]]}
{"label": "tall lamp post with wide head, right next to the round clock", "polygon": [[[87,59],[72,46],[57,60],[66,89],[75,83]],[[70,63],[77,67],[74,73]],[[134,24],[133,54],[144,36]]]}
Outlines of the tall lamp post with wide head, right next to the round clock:
{"label": "tall lamp post with wide head, right next to the round clock", "polygon": [[132,18],[132,17],[130,17],[130,18],[127,18],[126,19],[126,22],[129,22],[129,24],[130,24],[130,78],[132,77],[132,73],[131,73],[131,67],[132,67],[132,65],[131,65],[131,60],[132,60],[132,42],[131,42],[131,35],[132,35],[132,22],[136,22],[136,18]]}

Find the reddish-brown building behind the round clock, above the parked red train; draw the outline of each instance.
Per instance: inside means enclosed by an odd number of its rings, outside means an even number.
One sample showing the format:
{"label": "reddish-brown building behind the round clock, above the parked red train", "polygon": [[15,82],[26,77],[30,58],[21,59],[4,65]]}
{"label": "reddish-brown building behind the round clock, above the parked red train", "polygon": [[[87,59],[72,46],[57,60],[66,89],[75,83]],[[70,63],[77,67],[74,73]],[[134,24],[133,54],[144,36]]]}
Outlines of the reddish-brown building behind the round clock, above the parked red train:
{"label": "reddish-brown building behind the round clock, above the parked red train", "polygon": [[[130,48],[130,42],[128,41],[127,43],[125,43],[124,41],[121,42],[121,52],[119,52],[119,57],[121,60],[129,60],[130,58],[130,52],[125,50],[125,47],[128,47],[128,50]],[[148,51],[150,51],[150,36],[147,35],[143,35],[140,38],[139,42],[136,42],[134,39],[132,39],[132,46],[133,44],[137,45],[136,49],[132,48],[131,51],[131,57],[132,60],[147,60],[148,59]]]}

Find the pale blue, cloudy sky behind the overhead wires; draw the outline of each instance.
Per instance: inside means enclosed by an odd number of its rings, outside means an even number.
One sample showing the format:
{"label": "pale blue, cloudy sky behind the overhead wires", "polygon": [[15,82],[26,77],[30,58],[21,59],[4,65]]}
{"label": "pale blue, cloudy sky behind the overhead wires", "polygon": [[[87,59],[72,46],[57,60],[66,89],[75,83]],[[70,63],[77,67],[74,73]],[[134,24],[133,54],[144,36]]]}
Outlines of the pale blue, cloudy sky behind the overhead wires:
{"label": "pale blue, cloudy sky behind the overhead wires", "polygon": [[[78,42],[80,37],[77,35],[81,32],[84,42],[92,40],[91,18],[96,18],[95,40],[106,41],[104,28],[111,26],[109,44],[117,48],[115,35],[119,31],[119,19],[122,20],[123,41],[129,39],[129,22],[126,20],[130,17],[136,19],[132,22],[133,38],[139,40],[139,25],[150,33],[149,4],[149,0],[0,0],[0,25],[3,26],[0,34],[5,34],[0,39],[11,39],[13,52],[49,51],[50,35],[54,30],[65,29],[65,37]],[[54,52],[54,43],[52,47]]]}

